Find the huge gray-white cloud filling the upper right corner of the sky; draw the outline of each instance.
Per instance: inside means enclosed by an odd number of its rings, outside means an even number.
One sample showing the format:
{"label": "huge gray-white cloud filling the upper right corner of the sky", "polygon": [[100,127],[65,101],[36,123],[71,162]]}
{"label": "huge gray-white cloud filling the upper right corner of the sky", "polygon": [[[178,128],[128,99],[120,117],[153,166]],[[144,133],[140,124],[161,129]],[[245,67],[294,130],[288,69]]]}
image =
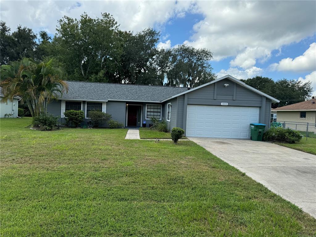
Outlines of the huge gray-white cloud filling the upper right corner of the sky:
{"label": "huge gray-white cloud filling the upper right corner of the sky", "polygon": [[244,69],[264,60],[272,50],[315,33],[315,1],[198,1],[205,18],[185,43],[205,47],[214,60],[236,57],[231,66]]}

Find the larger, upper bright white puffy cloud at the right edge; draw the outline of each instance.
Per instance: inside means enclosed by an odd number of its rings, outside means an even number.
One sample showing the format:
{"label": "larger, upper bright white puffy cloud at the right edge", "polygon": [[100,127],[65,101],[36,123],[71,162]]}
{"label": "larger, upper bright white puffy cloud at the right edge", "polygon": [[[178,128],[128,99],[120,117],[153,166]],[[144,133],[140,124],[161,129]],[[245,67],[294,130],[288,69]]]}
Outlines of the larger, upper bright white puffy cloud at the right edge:
{"label": "larger, upper bright white puffy cloud at the right edge", "polygon": [[270,65],[277,71],[312,71],[316,70],[316,43],[312,43],[303,55],[296,58],[283,58],[279,63]]}

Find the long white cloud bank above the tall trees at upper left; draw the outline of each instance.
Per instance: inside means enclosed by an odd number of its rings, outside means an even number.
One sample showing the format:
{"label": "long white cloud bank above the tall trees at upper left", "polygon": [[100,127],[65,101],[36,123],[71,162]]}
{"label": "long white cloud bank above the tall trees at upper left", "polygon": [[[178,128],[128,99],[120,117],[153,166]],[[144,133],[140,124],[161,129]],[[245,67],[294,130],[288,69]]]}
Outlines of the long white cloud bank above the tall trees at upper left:
{"label": "long white cloud bank above the tall trees at upper left", "polygon": [[[122,30],[140,31],[161,26],[173,17],[183,17],[191,8],[189,1],[1,1],[1,20],[11,29],[22,24],[35,32],[47,29],[55,33],[64,15],[79,18],[83,12],[100,17],[101,12],[114,16]],[[14,17],[12,17],[14,15]]]}

